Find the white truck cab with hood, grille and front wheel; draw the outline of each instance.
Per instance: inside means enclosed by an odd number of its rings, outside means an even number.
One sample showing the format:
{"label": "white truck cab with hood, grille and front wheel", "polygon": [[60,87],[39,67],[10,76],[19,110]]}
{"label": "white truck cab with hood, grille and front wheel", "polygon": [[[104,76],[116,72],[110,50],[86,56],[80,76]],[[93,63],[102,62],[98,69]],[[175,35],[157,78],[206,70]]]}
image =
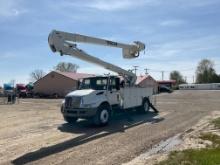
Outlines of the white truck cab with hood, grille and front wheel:
{"label": "white truck cab with hood, grille and front wheel", "polygon": [[98,125],[107,124],[112,107],[120,106],[119,81],[116,76],[84,78],[79,89],[65,97],[61,108],[64,119],[74,122],[78,118],[94,118]]}

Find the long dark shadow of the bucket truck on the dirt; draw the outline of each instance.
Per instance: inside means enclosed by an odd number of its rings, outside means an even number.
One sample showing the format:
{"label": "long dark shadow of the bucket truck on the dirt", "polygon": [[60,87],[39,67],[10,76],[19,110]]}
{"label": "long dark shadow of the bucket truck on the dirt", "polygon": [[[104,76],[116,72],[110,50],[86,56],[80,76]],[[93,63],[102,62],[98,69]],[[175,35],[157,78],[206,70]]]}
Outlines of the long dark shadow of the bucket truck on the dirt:
{"label": "long dark shadow of the bucket truck on the dirt", "polygon": [[111,123],[105,127],[96,127],[87,120],[80,120],[73,125],[64,123],[58,127],[58,130],[60,130],[61,132],[83,135],[61,142],[59,144],[41,148],[34,152],[26,153],[13,160],[12,163],[26,164],[65,151],[69,148],[79,146],[92,140],[108,136],[110,134],[124,132],[126,129],[138,126],[140,124],[153,124],[158,123],[162,120],[164,120],[164,118],[159,117],[158,114],[154,112],[149,112],[148,114],[143,115],[133,111],[114,115],[114,117],[111,120]]}

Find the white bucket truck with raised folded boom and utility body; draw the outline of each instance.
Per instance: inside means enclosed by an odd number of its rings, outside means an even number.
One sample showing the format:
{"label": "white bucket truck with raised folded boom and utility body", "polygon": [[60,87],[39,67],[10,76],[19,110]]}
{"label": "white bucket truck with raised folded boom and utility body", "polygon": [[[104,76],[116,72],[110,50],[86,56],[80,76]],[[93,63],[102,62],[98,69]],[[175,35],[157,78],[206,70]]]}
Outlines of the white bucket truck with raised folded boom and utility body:
{"label": "white bucket truck with raised folded boom and utility body", "polygon": [[116,109],[137,108],[145,113],[149,111],[150,106],[153,107],[153,87],[136,86],[137,77],[134,73],[86,53],[79,49],[76,43],[121,48],[123,58],[127,59],[138,57],[140,51],[145,49],[145,44],[139,41],[124,44],[56,30],[49,34],[48,42],[53,52],[94,63],[119,75],[84,78],[79,89],[67,94],[62,102],[61,112],[67,122],[73,123],[78,118],[86,118],[92,119],[96,125],[106,125]]}

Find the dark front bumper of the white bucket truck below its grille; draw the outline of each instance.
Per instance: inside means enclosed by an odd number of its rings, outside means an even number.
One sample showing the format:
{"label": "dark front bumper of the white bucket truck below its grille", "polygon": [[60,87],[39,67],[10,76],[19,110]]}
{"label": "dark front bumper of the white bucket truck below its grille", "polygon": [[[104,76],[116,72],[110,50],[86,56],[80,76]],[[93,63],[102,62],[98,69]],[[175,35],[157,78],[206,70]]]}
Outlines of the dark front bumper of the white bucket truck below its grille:
{"label": "dark front bumper of the white bucket truck below its grille", "polygon": [[78,117],[78,118],[90,118],[95,116],[97,108],[73,108],[67,109],[61,107],[61,113],[63,116]]}

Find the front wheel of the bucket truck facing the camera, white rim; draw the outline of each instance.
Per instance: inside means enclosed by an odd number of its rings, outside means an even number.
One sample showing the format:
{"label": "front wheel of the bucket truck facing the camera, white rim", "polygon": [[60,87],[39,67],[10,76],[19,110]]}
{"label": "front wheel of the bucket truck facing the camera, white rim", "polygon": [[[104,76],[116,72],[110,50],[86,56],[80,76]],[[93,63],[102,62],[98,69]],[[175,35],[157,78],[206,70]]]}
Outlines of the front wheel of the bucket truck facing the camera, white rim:
{"label": "front wheel of the bucket truck facing the camera, white rim", "polygon": [[93,123],[98,126],[105,126],[109,123],[110,117],[110,106],[108,104],[102,104],[98,107],[98,111],[93,118]]}

